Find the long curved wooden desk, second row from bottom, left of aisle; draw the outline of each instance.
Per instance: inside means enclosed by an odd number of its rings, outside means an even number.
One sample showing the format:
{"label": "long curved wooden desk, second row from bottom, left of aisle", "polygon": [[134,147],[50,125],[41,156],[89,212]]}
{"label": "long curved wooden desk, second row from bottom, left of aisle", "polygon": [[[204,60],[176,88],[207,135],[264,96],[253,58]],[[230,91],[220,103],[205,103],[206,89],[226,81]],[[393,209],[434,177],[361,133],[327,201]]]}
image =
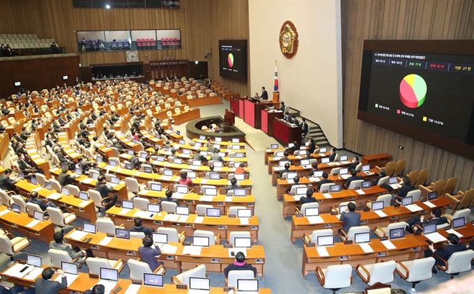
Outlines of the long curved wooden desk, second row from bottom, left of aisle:
{"label": "long curved wooden desk, second row from bottom, left of aisle", "polygon": [[[120,259],[128,261],[130,258],[137,259],[139,257],[138,247],[142,246],[142,239],[130,238],[130,240],[112,238],[107,245],[99,245],[100,241],[107,237],[105,233],[87,234],[84,238],[92,238],[91,242],[84,243],[81,240],[74,240],[70,238],[70,235],[74,233],[75,229],[70,231],[64,236],[70,245],[79,246],[84,249],[92,249],[95,256],[100,256],[109,259]],[[82,240],[84,240],[82,238]],[[203,247],[201,255],[191,256],[183,255],[184,246],[181,243],[169,243],[174,247],[177,247],[176,252],[162,252],[161,256],[157,259],[165,263],[166,268],[174,268],[178,270],[178,274],[183,270],[190,270],[196,265],[206,265],[208,272],[224,272],[224,268],[227,265],[234,263],[234,257],[229,257],[229,249],[224,248],[222,245],[211,245],[210,247]],[[217,259],[217,262],[215,260]],[[263,265],[265,264],[265,253],[263,252],[263,246],[254,245],[252,248],[247,249],[247,255],[245,261],[250,263],[257,268],[257,274],[263,277]]]}

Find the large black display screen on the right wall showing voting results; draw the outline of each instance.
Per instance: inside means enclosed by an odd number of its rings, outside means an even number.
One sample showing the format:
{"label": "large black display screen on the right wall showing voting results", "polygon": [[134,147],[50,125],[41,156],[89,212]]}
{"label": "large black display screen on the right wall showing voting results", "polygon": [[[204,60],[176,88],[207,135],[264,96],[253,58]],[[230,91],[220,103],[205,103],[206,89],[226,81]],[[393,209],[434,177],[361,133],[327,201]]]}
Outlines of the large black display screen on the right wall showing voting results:
{"label": "large black display screen on the right wall showing voting results", "polygon": [[474,55],[422,49],[365,48],[358,118],[469,157],[459,144],[474,149]]}

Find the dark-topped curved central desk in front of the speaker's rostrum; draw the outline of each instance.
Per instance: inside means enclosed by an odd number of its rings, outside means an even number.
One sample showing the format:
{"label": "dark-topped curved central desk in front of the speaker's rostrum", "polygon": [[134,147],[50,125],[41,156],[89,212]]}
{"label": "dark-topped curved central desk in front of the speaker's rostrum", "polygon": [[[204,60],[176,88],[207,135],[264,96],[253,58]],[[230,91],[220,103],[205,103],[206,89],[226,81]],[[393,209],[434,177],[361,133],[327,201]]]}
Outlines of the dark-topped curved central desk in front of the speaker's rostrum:
{"label": "dark-topped curved central desk in front of the speaker's rostrum", "polygon": [[201,130],[203,125],[209,126],[215,123],[216,125],[224,124],[224,118],[222,116],[208,116],[206,118],[198,118],[194,121],[190,121],[186,125],[186,135],[190,139],[198,138],[199,136],[206,137],[220,137],[222,141],[231,141],[232,138],[238,138],[241,142],[245,141],[245,132],[242,132],[237,127],[230,127],[229,125],[224,126],[224,132],[206,132]]}

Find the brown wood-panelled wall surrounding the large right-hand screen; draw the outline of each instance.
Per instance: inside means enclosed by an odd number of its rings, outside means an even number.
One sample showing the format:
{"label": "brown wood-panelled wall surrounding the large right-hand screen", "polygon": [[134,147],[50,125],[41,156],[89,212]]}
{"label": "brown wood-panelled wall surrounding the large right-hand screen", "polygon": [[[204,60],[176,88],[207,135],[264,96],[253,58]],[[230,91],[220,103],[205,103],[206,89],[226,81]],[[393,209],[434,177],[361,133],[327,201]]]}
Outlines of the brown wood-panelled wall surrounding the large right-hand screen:
{"label": "brown wood-panelled wall surrounding the large right-hand screen", "polygon": [[343,0],[342,10],[345,148],[390,153],[395,160],[408,161],[406,171],[429,169],[428,180],[454,176],[458,189],[474,187],[473,160],[357,119],[363,41],[472,39],[474,0]]}

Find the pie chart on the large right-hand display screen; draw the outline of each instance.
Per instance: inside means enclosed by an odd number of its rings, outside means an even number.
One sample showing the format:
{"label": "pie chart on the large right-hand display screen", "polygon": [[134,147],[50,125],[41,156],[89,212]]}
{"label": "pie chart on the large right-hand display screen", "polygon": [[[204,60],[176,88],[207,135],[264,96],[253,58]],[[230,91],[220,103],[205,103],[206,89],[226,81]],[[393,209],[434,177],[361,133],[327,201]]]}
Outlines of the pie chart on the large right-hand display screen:
{"label": "pie chart on the large right-hand display screen", "polygon": [[400,82],[400,100],[406,107],[418,108],[427,97],[427,83],[419,75],[407,75]]}

